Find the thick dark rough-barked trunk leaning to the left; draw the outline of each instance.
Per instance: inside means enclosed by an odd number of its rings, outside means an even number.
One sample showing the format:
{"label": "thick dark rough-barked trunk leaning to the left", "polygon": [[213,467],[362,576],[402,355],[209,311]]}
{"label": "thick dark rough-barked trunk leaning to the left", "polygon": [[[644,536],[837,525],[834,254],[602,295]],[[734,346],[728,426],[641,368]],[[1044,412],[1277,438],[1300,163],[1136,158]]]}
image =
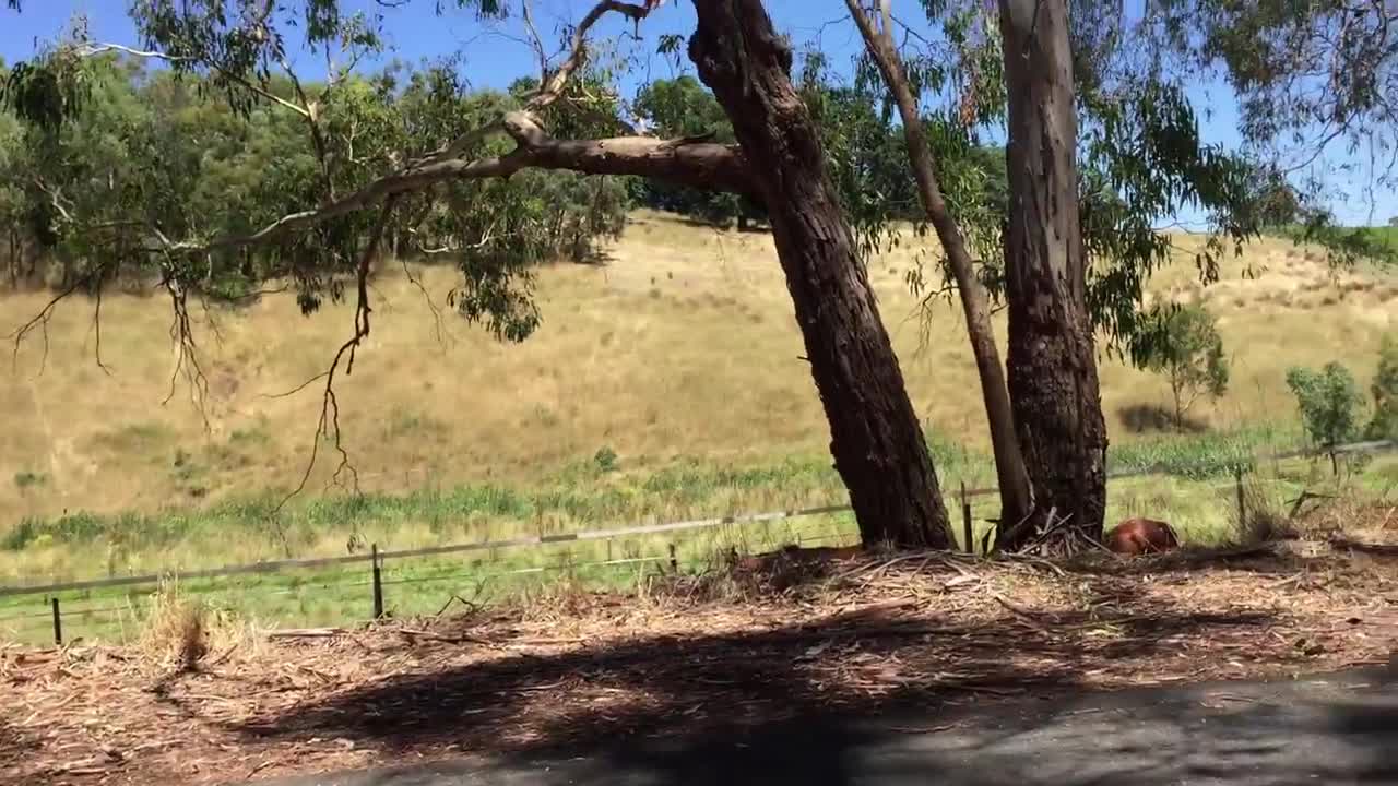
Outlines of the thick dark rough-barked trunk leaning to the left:
{"label": "thick dark rough-barked trunk leaning to the left", "polygon": [[696,0],[689,56],[726,113],[772,221],[835,469],[865,544],[951,545],[937,473],[864,263],[761,0]]}

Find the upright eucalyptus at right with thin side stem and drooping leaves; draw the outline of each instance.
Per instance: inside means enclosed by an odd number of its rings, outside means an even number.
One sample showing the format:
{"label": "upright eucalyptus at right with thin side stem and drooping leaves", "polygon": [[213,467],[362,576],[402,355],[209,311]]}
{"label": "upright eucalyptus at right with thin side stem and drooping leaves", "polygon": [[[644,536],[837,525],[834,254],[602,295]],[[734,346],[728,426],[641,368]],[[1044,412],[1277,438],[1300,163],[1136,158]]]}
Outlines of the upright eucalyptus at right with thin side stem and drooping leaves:
{"label": "upright eucalyptus at right with thin side stem and drooping leaves", "polygon": [[[1309,162],[1342,134],[1392,150],[1392,10],[1276,1],[1254,14],[1251,3],[1180,0],[1132,17],[1125,6],[1090,0],[924,1],[941,31],[932,41],[891,0],[846,6],[884,101],[902,116],[925,220],[966,310],[1011,524],[1033,520],[1019,517],[1022,464],[1040,516],[1068,513],[1089,536],[1100,533],[1107,442],[1095,333],[1137,365],[1166,338],[1141,308],[1145,281],[1176,252],[1162,220],[1184,208],[1206,215],[1195,257],[1205,281],[1216,278],[1230,245],[1236,253],[1262,231],[1293,224],[1339,262],[1394,256],[1373,234],[1339,229],[1317,182],[1282,164],[1283,152]],[[1192,81],[1219,71],[1243,108],[1240,150],[1205,144],[1187,98]],[[1329,83],[1339,88],[1327,91]],[[924,102],[938,98],[945,108],[934,103],[928,116]],[[948,187],[959,161],[927,141],[945,133],[923,127],[974,137],[1000,124],[1008,194],[1004,214],[987,215]],[[1380,183],[1391,183],[1388,166]],[[972,276],[976,264],[980,276]],[[1009,309],[1008,375],[984,316],[987,295]],[[1005,527],[1001,545],[1033,534]]]}

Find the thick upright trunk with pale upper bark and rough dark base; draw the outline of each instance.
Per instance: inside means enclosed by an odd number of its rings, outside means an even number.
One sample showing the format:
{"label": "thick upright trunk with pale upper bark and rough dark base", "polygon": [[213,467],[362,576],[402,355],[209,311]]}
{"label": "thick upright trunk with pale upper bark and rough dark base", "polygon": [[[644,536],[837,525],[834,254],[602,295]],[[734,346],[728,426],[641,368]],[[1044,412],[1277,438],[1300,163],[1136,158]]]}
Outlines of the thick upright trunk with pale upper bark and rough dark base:
{"label": "thick upright trunk with pale upper bark and rough dark base", "polygon": [[1067,3],[1000,0],[1000,29],[1009,95],[1005,285],[1015,425],[1037,510],[1055,508],[1100,537],[1107,434],[1085,302]]}

